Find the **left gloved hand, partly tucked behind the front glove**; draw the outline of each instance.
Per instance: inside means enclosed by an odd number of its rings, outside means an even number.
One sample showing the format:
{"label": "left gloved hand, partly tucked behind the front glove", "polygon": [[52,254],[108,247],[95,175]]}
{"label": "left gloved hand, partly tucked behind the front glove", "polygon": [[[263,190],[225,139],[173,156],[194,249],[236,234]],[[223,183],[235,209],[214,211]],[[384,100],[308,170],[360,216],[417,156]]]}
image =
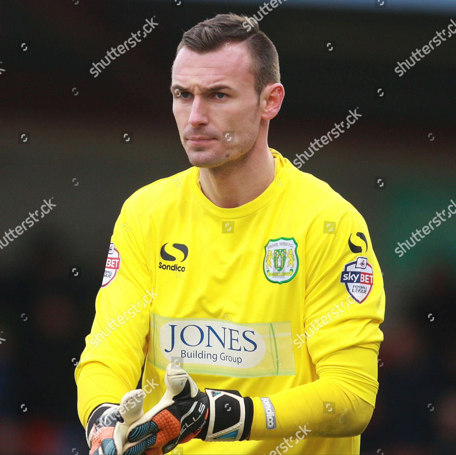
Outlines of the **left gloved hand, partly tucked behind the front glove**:
{"label": "left gloved hand, partly tucked behind the front glove", "polygon": [[145,393],[138,389],[125,393],[119,405],[108,408],[88,436],[90,455],[117,455],[127,440],[128,429],[143,415]]}

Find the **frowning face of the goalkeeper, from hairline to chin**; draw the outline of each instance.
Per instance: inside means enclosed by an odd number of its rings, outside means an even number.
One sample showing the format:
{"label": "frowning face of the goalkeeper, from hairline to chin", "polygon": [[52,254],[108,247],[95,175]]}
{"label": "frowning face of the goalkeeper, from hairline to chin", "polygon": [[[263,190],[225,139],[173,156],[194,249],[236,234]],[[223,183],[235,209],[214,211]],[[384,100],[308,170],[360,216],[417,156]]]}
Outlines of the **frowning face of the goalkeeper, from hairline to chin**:
{"label": "frowning face of the goalkeeper, from hairline to chin", "polygon": [[244,43],[198,54],[183,47],[172,72],[173,113],[193,166],[217,167],[249,152],[261,105]]}

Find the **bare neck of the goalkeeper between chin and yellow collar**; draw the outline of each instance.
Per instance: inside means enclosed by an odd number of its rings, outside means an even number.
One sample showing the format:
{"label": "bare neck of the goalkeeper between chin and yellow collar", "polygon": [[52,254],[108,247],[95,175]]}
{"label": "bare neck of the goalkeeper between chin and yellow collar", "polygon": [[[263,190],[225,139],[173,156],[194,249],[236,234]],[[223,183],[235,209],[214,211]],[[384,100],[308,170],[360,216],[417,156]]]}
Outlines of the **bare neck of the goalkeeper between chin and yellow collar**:
{"label": "bare neck of the goalkeeper between chin and yellow collar", "polygon": [[200,168],[203,194],[213,204],[232,209],[253,201],[274,180],[274,157],[268,146],[250,150],[234,162]]}

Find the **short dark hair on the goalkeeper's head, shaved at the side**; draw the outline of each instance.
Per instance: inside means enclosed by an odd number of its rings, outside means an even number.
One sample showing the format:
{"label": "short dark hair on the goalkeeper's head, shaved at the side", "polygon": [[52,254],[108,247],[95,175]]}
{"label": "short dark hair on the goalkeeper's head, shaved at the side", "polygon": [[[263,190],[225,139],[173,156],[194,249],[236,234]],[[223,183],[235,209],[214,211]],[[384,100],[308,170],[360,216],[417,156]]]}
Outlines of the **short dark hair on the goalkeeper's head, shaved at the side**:
{"label": "short dark hair on the goalkeeper's head, shaved at the side", "polygon": [[[199,22],[183,35],[177,46],[176,56],[182,47],[194,52],[217,51],[226,42],[245,42],[252,61],[251,73],[258,95],[267,84],[280,83],[279,55],[272,41],[259,29],[258,22],[237,14],[218,14]],[[173,63],[174,65],[174,63]]]}

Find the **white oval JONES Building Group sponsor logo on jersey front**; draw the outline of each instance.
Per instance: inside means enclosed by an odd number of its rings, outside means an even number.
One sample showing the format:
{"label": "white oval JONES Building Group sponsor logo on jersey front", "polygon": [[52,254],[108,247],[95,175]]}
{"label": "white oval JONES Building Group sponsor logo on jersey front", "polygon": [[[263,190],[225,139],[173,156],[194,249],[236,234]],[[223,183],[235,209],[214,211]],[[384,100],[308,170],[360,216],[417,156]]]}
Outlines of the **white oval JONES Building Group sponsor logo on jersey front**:
{"label": "white oval JONES Building Group sponsor logo on jersey front", "polygon": [[160,329],[163,355],[185,362],[251,368],[263,360],[263,337],[247,325],[211,323],[207,320],[173,320]]}

